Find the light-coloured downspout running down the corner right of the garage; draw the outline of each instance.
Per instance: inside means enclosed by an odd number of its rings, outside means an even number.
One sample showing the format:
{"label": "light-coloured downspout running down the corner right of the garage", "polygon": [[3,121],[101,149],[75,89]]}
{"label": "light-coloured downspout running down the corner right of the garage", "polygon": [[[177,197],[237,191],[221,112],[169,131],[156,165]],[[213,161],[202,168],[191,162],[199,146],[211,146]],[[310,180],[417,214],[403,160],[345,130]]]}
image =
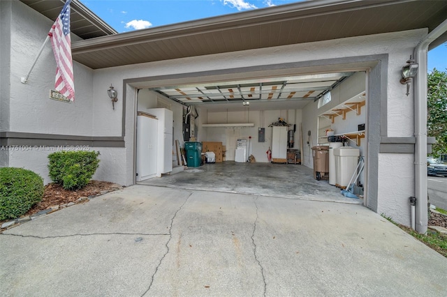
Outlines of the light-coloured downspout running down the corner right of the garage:
{"label": "light-coloured downspout running down the corner right of the garage", "polygon": [[447,20],[444,20],[433,31],[427,34],[413,50],[413,57],[419,65],[413,86],[414,91],[414,147],[416,231],[427,232],[427,52],[428,46],[447,31]]}

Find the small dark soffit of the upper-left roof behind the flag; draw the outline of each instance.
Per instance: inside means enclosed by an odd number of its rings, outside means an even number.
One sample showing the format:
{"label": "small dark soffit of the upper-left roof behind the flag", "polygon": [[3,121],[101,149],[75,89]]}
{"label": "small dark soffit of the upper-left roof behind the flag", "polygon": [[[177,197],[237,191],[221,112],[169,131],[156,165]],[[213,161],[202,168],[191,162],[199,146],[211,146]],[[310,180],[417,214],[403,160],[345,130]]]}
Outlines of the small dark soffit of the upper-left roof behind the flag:
{"label": "small dark soffit of the upper-left roof behind the flag", "polygon": [[[55,21],[64,7],[65,0],[20,0],[27,6],[37,10],[45,17]],[[71,32],[82,39],[96,38],[116,34],[117,31],[105,24],[98,16],[77,0],[71,1]]]}

